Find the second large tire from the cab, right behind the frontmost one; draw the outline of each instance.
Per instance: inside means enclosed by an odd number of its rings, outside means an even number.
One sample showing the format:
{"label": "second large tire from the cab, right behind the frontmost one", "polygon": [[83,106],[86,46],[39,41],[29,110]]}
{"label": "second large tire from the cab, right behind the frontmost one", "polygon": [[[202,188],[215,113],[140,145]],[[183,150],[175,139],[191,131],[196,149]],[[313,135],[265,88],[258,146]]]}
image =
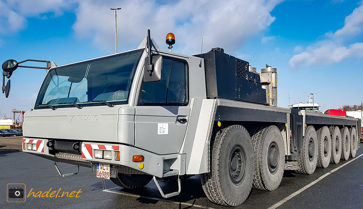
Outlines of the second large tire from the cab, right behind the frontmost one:
{"label": "second large tire from the cab, right behind the frontmost one", "polygon": [[284,176],[284,139],[277,126],[267,126],[253,131],[254,178],[253,188],[273,191]]}

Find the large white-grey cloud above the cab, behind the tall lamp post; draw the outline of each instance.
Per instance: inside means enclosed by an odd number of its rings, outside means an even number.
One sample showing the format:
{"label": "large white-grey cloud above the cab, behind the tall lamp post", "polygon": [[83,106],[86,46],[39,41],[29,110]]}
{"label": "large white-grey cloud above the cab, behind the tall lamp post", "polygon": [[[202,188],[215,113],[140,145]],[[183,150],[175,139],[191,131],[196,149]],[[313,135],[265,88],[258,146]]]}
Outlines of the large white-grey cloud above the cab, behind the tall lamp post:
{"label": "large white-grey cloud above the cab, behind the tall lamp post", "polygon": [[278,3],[280,1],[180,0],[159,5],[158,1],[81,1],[73,29],[79,37],[92,37],[97,46],[112,49],[114,12],[109,8],[120,5],[117,32],[121,50],[138,45],[146,37],[147,29],[151,29],[151,36],[164,49],[166,34],[173,32],[176,35],[174,51],[199,53],[202,37],[203,49],[223,47],[234,51],[275,20],[270,12]]}

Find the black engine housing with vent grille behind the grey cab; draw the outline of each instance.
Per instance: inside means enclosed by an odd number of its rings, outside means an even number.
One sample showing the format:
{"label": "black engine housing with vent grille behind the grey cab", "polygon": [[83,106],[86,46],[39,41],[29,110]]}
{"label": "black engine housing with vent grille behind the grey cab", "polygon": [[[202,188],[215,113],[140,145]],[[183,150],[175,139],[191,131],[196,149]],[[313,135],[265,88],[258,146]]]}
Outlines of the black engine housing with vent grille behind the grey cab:
{"label": "black engine housing with vent grille behind the grey cab", "polygon": [[204,59],[207,98],[224,98],[266,104],[266,90],[260,75],[248,71],[248,62],[213,48],[208,53],[193,55]]}

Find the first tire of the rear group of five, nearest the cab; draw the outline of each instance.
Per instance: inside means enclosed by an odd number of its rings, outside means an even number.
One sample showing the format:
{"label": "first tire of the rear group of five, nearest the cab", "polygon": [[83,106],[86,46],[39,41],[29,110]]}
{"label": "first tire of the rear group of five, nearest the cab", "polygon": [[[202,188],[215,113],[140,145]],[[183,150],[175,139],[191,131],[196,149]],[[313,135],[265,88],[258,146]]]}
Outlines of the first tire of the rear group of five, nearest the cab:
{"label": "first tire of the rear group of five, nearest the cab", "polygon": [[298,174],[313,174],[318,162],[318,137],[314,126],[307,126],[299,152]]}

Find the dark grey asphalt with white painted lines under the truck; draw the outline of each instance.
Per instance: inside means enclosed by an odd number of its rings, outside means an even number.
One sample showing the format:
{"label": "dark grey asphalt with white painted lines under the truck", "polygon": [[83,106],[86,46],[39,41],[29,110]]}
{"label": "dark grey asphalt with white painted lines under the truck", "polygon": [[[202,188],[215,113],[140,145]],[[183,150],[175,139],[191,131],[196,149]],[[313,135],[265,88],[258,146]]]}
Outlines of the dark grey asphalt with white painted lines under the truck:
{"label": "dark grey asphalt with white painted lines under the truck", "polygon": [[[361,143],[363,145],[363,143]],[[362,146],[363,147],[363,146]],[[363,148],[357,151],[359,156]],[[353,161],[351,161],[353,160]],[[350,162],[351,161],[351,162]],[[349,162],[349,163],[347,163]],[[347,164],[345,164],[347,163]],[[181,193],[163,199],[154,181],[141,189],[123,189],[110,180],[95,177],[90,168],[80,167],[75,176],[61,177],[53,162],[24,152],[0,152],[0,208],[230,208],[213,204],[205,196],[199,175],[181,180]],[[62,172],[76,166],[60,163]],[[330,164],[312,175],[285,171],[279,188],[271,192],[252,190],[248,199],[235,208],[363,208],[363,156]],[[7,202],[7,184],[25,184],[37,192],[79,191],[78,197],[26,197],[25,202]],[[160,183],[165,192],[177,190],[176,181]],[[10,185],[11,186],[11,185]],[[50,189],[52,188],[52,189]]]}

